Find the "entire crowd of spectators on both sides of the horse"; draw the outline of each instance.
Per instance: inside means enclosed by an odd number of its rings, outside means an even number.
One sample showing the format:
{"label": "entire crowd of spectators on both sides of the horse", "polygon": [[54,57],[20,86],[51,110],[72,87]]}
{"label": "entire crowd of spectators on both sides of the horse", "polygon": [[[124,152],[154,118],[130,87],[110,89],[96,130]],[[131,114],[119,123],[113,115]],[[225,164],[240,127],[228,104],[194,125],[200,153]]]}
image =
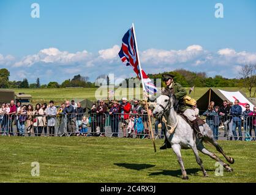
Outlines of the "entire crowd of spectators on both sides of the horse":
{"label": "entire crowd of spectators on both sides of the horse", "polygon": [[[149,138],[146,104],[148,102],[136,99],[128,101],[126,98],[107,103],[100,100],[86,112],[79,102],[75,103],[73,100],[71,103],[66,101],[59,107],[50,101],[48,104],[36,104],[35,108],[31,104],[21,105],[17,102],[15,105],[14,101],[10,101],[10,104],[2,104],[0,108],[0,132],[2,136],[24,136],[25,133],[28,133],[28,136],[57,136],[66,129],[68,135],[105,137],[105,125],[108,122],[112,137],[121,135],[123,138]],[[154,105],[148,106],[149,115],[152,116]],[[195,116],[199,116],[197,106],[194,106],[193,110]],[[234,105],[227,101],[220,106],[211,102],[203,116],[206,116],[206,123],[213,130],[216,140],[219,137],[219,127],[224,128],[224,137],[228,140],[242,140],[242,127],[246,140],[252,139],[252,130],[256,131],[256,107],[250,110],[250,105],[247,104],[246,110],[242,112],[238,100]],[[13,131],[13,126],[16,126],[16,132]],[[89,127],[91,132],[88,132]],[[161,119],[154,120],[154,130],[155,135],[164,138],[165,124]]]}

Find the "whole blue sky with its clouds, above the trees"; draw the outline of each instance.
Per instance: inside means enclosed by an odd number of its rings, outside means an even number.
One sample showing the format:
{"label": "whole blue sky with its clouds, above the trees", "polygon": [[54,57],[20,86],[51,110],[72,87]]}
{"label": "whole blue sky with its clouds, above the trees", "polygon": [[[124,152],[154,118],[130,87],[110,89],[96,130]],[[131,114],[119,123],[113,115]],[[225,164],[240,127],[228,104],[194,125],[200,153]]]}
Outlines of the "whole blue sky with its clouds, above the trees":
{"label": "whole blue sky with its clouds, above the trees", "polygon": [[[40,18],[31,18],[31,4]],[[216,3],[224,18],[215,18]],[[135,76],[117,57],[135,23],[146,73],[186,68],[237,77],[256,63],[256,1],[0,1],[0,68],[10,79],[62,82],[80,73]],[[118,68],[118,73],[116,69]],[[232,69],[232,71],[227,71]],[[58,76],[56,76],[56,73]],[[53,77],[54,76],[54,77]]]}

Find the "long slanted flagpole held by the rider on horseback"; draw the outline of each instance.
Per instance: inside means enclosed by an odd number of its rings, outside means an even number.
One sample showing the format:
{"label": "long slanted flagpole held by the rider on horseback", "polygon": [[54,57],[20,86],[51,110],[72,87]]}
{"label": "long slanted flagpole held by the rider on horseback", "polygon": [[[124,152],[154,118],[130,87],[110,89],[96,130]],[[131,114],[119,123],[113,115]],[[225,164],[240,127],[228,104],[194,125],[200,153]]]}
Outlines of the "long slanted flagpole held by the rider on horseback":
{"label": "long slanted flagpole held by the rider on horseback", "polygon": [[148,112],[148,100],[146,99],[146,96],[145,96],[146,89],[145,89],[145,84],[143,81],[143,75],[142,75],[141,66],[140,66],[140,55],[138,54],[138,44],[137,44],[137,39],[136,39],[136,34],[135,34],[134,23],[132,23],[132,29],[134,30],[134,41],[135,41],[136,53],[137,53],[137,57],[138,57],[138,67],[140,68],[140,80],[141,80],[141,84],[142,84],[142,88],[143,88],[143,98],[145,98],[145,102],[146,102],[146,112],[148,113],[148,121],[149,121],[149,126],[150,126],[150,131],[151,131],[152,142],[153,142],[153,146],[154,146],[154,151],[156,152],[156,143],[154,141],[154,134],[152,131],[151,116],[149,115],[149,112]]}

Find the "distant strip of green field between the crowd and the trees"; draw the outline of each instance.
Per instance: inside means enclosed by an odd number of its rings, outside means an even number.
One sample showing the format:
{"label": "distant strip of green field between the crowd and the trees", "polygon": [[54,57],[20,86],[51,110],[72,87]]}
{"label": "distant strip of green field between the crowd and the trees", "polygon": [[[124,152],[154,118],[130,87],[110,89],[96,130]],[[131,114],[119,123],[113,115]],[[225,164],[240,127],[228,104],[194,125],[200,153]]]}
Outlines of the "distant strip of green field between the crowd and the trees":
{"label": "distant strip of green field between the crowd and the trees", "polygon": [[[221,90],[227,90],[227,91],[238,91],[241,90],[244,93],[249,96],[249,92],[246,90],[246,88],[230,88],[230,87],[222,87],[219,88]],[[15,90],[16,93],[28,93],[32,95],[32,103],[36,104],[38,102],[48,102],[50,100],[53,100],[56,102],[56,105],[61,104],[62,102],[70,99],[77,99],[83,100],[85,98],[88,98],[92,101],[95,101],[95,91],[96,88],[39,88],[39,89],[12,89]],[[209,88],[195,88],[195,91],[193,91],[190,96],[192,98],[198,99],[200,98],[206,91],[209,90]],[[189,88],[187,88],[187,91],[189,91]],[[254,90],[253,90],[254,91]],[[142,93],[142,91],[141,91]]]}

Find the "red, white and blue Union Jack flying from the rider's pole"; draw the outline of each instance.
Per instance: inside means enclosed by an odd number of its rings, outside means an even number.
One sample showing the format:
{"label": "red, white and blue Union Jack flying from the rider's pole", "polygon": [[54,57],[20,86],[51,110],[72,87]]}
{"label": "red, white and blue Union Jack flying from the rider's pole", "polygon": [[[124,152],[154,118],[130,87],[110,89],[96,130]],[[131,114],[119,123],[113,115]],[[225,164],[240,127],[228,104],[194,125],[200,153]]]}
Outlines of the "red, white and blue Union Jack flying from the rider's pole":
{"label": "red, white and blue Union Jack flying from the rider's pole", "polygon": [[[126,66],[132,66],[134,68],[134,72],[137,74],[138,79],[141,80],[140,76],[140,65],[138,62],[138,54],[137,54],[137,46],[135,44],[134,38],[134,28],[131,27],[124,37],[122,38],[122,48],[119,51],[119,57],[122,60],[122,63]],[[145,90],[150,93],[154,94],[157,93],[156,86],[152,83],[151,79],[146,75],[145,71],[141,69],[142,74],[142,83],[144,83]]]}

